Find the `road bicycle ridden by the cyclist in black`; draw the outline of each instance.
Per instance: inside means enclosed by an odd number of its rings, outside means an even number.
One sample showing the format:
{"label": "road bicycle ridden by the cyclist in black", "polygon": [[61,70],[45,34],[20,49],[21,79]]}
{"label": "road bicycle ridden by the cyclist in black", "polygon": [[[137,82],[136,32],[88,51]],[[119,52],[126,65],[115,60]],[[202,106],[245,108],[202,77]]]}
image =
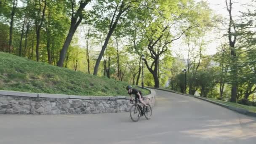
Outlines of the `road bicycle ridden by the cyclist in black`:
{"label": "road bicycle ridden by the cyclist in black", "polygon": [[[131,120],[134,122],[137,122],[141,116],[145,116],[147,120],[149,120],[152,116],[152,109],[149,104],[147,104],[147,107],[145,107],[139,99],[132,99],[130,101],[131,104],[133,104],[130,108],[130,116]],[[143,106],[143,107],[141,107]]]}

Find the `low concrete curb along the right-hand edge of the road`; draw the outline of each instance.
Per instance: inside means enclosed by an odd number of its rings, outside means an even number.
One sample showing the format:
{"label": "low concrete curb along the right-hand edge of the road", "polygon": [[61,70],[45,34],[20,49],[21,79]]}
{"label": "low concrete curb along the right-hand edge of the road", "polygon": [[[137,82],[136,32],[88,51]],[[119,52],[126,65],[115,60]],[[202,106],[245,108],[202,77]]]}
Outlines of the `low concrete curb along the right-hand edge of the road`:
{"label": "low concrete curb along the right-hand edge of the road", "polygon": [[[151,87],[150,87],[151,88]],[[172,91],[172,90],[165,90],[165,89],[161,89],[161,88],[153,88],[153,89],[157,89],[157,90],[160,90],[160,91],[168,91],[168,92],[171,92],[171,93],[177,93],[177,94],[181,94],[181,95],[184,95],[184,96],[190,96],[190,97],[194,97],[196,99],[200,99],[200,100],[203,100],[203,101],[207,101],[207,102],[210,102],[212,104],[216,104],[216,105],[219,105],[221,107],[225,107],[229,110],[232,110],[232,111],[235,111],[235,112],[238,112],[240,114],[243,114],[243,115],[248,115],[248,116],[251,116],[251,117],[256,117],[256,112],[250,112],[246,109],[243,109],[243,108],[240,108],[240,107],[233,107],[233,106],[228,106],[226,104],[221,104],[219,102],[216,102],[216,101],[211,101],[209,99],[204,99],[200,96],[193,96],[193,95],[189,95],[189,94],[184,94],[184,93],[179,93],[177,91]]]}

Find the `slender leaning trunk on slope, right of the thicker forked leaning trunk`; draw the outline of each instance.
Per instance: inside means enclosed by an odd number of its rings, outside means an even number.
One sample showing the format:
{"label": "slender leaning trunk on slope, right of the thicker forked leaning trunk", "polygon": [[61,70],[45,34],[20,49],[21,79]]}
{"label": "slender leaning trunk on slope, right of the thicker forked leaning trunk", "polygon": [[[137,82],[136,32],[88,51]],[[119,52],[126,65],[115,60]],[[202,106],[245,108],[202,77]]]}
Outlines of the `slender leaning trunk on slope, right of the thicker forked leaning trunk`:
{"label": "slender leaning trunk on slope, right of the thicker forked leaning trunk", "polygon": [[[100,64],[101,58],[102,58],[102,56],[104,54],[105,49],[107,48],[107,44],[109,42],[109,39],[110,39],[112,33],[114,32],[116,26],[117,26],[117,22],[119,21],[120,16],[122,15],[122,13],[124,13],[129,8],[129,6],[126,7],[126,8],[124,8],[124,7],[125,7],[125,2],[123,0],[121,5],[120,5],[120,8],[119,8],[119,13],[116,15],[118,5],[116,6],[115,12],[114,12],[114,14],[112,16],[112,20],[111,20],[111,23],[110,23],[110,26],[109,26],[109,32],[108,32],[107,37],[105,39],[104,45],[101,48],[101,52],[99,54],[99,57],[98,57],[98,59],[96,61],[96,64],[95,64],[95,67],[94,67],[94,71],[93,71],[93,75],[97,75],[97,73],[98,73],[98,69],[99,69],[99,64]],[[115,18],[115,16],[116,16],[116,18]],[[115,22],[114,22],[114,18],[115,18]]]}

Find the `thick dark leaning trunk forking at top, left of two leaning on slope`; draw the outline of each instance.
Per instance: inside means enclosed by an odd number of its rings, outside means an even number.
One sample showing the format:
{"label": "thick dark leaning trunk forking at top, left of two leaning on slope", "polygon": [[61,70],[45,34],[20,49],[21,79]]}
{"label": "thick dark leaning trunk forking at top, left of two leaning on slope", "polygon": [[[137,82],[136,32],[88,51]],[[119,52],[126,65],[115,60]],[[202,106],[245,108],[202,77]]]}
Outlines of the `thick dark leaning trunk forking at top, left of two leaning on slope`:
{"label": "thick dark leaning trunk forking at top, left of two leaning on slope", "polygon": [[[72,18],[71,18],[71,24],[70,24],[70,28],[69,28],[69,33],[66,37],[66,40],[64,42],[64,45],[61,49],[60,55],[59,55],[59,61],[57,62],[57,65],[59,67],[63,67],[64,64],[64,60],[66,57],[66,53],[67,53],[67,49],[72,41],[72,38],[75,34],[75,31],[77,29],[77,27],[79,26],[79,24],[81,23],[82,19],[83,19],[83,15],[82,15],[82,11],[85,8],[85,6],[90,2],[91,0],[83,0],[80,2],[80,6],[77,9],[76,13],[74,13],[74,3],[72,3]],[[79,17],[79,19],[78,19]],[[78,20],[77,20],[78,19]]]}

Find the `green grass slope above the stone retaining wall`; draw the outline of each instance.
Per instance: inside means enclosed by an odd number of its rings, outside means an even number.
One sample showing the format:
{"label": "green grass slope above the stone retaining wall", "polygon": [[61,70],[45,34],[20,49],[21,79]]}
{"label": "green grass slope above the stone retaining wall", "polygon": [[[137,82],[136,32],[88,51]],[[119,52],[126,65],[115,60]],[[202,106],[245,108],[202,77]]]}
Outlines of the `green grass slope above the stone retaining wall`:
{"label": "green grass slope above the stone retaining wall", "polygon": [[[81,96],[128,96],[127,82],[96,77],[67,68],[0,52],[0,90]],[[143,95],[150,92],[138,88]]]}

